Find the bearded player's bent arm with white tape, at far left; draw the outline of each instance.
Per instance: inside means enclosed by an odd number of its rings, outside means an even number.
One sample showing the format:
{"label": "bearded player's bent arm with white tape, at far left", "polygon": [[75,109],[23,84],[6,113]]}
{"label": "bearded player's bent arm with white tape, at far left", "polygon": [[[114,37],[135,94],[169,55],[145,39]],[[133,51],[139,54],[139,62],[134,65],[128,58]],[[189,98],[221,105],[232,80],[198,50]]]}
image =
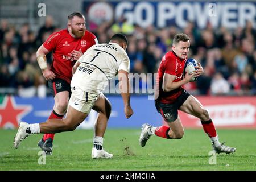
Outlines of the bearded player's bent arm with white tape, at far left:
{"label": "bearded player's bent arm with white tape, at far left", "polygon": [[42,46],[40,46],[38,51],[36,52],[36,60],[38,61],[44,78],[46,78],[46,80],[52,80],[55,78],[56,75],[49,68],[47,68],[47,53],[49,53],[49,51],[42,44]]}

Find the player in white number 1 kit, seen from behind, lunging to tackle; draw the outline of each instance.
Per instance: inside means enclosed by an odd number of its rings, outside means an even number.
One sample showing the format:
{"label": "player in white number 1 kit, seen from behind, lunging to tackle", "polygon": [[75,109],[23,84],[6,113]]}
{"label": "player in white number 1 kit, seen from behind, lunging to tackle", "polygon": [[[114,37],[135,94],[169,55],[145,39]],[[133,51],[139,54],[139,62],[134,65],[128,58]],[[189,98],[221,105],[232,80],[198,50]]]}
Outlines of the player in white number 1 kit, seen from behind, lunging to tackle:
{"label": "player in white number 1 kit, seen from behind, lunging to tackle", "polygon": [[[97,44],[90,47],[73,67],[72,94],[66,117],[64,119],[47,119],[46,122],[34,124],[20,122],[14,147],[18,148],[20,142],[31,134],[75,130],[88,116],[91,109],[101,113],[101,118],[97,119],[108,121],[111,105],[102,92],[117,73],[125,116],[130,118],[133,115],[133,109],[130,106],[130,60],[125,52],[126,48],[127,38],[122,34],[113,35],[108,44]],[[99,138],[98,142],[102,143],[103,138]],[[92,158],[98,158],[98,156],[113,157],[103,148],[92,151]]]}

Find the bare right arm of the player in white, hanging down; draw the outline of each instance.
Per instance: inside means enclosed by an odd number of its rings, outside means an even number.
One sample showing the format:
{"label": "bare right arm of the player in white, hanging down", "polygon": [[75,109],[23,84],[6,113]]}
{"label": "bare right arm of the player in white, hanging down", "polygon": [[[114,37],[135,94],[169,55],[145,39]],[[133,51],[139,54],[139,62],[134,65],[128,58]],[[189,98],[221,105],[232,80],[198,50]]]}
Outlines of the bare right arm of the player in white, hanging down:
{"label": "bare right arm of the player in white, hanging down", "polygon": [[118,80],[123,104],[125,105],[125,116],[128,119],[133,115],[133,109],[131,109],[130,105],[130,80],[128,72],[123,70],[118,71]]}

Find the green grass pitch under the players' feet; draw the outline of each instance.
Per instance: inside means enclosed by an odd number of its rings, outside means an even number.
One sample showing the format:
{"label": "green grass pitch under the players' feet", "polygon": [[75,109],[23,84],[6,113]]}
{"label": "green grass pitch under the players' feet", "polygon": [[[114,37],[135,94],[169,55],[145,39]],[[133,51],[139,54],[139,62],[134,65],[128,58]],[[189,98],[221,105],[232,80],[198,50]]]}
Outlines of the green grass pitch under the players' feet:
{"label": "green grass pitch under the players' feet", "polygon": [[92,130],[75,130],[55,136],[53,155],[39,165],[38,140],[32,135],[19,148],[11,148],[16,130],[0,130],[0,170],[256,170],[256,130],[218,130],[220,141],[234,146],[234,154],[217,155],[209,164],[211,144],[203,130],[186,129],[180,140],[151,137],[139,146],[140,129],[108,129],[104,148],[113,159],[92,159]]}

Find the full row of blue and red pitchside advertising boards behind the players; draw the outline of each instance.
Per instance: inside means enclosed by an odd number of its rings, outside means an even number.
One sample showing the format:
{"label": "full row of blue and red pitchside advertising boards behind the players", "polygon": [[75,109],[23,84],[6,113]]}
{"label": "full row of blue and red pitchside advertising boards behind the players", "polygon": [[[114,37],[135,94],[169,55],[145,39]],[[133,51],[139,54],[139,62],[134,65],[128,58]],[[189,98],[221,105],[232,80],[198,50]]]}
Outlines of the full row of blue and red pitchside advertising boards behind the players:
{"label": "full row of blue and red pitchside advertising boards behind the players", "polygon": [[[112,113],[108,128],[140,128],[143,123],[153,126],[163,125],[163,119],[157,113],[154,100],[146,95],[131,96],[131,106],[134,114],[126,119],[123,111],[122,97],[119,95],[107,96],[112,104]],[[207,109],[217,127],[256,127],[256,97],[205,97],[197,99]],[[44,122],[49,117],[53,107],[53,98],[20,98],[14,96],[0,96],[0,128],[17,128],[20,121],[28,123]],[[93,129],[97,112],[92,110],[79,125],[80,129]],[[201,128],[199,118],[179,111],[179,117],[184,128]],[[166,124],[166,123],[165,123]]]}

